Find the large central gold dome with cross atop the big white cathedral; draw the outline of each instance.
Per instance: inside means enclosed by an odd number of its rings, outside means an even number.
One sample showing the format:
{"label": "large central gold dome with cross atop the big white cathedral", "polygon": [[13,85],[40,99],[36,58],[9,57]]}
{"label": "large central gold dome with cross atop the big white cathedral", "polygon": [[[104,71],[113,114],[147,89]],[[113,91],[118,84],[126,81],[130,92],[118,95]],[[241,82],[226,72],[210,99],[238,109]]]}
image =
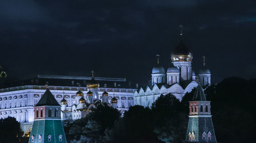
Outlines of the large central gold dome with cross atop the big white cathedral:
{"label": "large central gold dome with cross atop the big white cathedral", "polygon": [[191,51],[185,46],[183,42],[183,26],[180,25],[181,33],[178,39],[177,45],[175,49],[172,51],[172,61],[174,62],[190,62],[192,61],[192,53]]}

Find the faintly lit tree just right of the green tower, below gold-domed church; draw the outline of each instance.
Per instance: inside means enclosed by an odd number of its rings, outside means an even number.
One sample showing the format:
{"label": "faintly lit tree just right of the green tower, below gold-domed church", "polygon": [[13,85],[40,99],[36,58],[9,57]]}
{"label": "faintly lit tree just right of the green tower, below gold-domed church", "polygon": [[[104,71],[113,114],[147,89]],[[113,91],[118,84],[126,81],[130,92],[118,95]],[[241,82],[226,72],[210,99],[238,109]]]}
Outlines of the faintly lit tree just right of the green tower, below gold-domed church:
{"label": "faintly lit tree just right of the green tower, below gold-domed church", "polygon": [[[104,142],[108,140],[108,130],[119,119],[120,112],[108,105],[98,105],[86,118],[65,123],[65,133],[68,141]],[[87,140],[87,141],[84,141]]]}

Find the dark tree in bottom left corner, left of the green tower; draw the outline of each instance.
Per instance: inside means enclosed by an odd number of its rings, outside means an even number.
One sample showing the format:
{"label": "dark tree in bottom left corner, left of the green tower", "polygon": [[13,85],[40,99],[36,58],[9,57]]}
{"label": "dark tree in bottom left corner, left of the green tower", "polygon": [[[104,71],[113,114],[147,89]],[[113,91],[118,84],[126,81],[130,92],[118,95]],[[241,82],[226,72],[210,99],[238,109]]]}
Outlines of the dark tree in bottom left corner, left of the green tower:
{"label": "dark tree in bottom left corner, left of the green tower", "polygon": [[0,119],[0,142],[19,142],[24,132],[20,124],[13,117]]}

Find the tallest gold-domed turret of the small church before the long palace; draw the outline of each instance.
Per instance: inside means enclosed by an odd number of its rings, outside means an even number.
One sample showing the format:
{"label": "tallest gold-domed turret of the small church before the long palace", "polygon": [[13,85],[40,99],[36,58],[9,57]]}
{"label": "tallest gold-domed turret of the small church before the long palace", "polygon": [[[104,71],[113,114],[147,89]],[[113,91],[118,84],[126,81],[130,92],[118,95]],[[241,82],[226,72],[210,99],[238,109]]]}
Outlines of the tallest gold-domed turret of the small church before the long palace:
{"label": "tallest gold-domed turret of the small church before the long palace", "polygon": [[94,79],[94,71],[92,70],[92,79],[86,84],[87,89],[93,93],[93,100],[99,99],[99,82]]}

